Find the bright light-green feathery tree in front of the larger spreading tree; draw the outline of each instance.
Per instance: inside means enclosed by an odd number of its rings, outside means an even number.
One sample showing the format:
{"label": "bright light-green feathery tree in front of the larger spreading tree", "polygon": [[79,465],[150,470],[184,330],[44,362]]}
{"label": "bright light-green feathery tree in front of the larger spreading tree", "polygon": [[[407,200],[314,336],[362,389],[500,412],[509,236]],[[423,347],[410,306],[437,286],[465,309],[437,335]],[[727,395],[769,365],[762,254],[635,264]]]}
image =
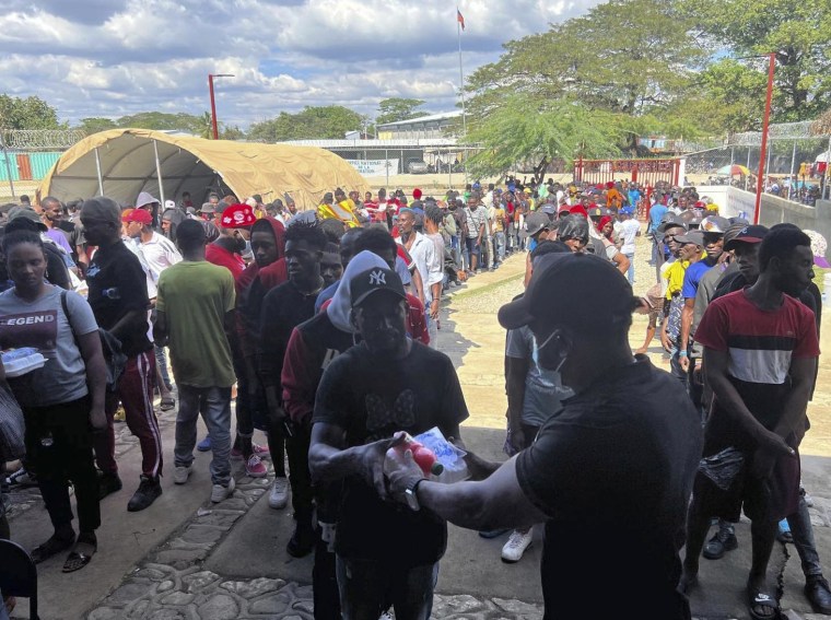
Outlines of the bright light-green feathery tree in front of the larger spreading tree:
{"label": "bright light-green feathery tree in front of the larger spreading tree", "polygon": [[527,165],[540,180],[553,159],[572,163],[581,155],[618,154],[618,142],[624,136],[620,119],[611,113],[590,110],[575,100],[538,105],[515,94],[468,132],[467,140],[482,150],[467,161],[467,168],[476,177]]}

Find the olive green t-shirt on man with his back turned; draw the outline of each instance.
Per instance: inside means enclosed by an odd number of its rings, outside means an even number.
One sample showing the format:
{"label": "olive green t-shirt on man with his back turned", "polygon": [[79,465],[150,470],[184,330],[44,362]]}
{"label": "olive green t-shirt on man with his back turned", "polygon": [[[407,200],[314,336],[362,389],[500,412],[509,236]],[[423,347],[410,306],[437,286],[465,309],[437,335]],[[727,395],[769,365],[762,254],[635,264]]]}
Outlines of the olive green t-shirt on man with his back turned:
{"label": "olive green t-shirt on man with his back turned", "polygon": [[236,383],[224,329],[234,297],[234,278],[224,267],[183,261],[162,271],[156,308],[167,318],[177,384],[231,387]]}

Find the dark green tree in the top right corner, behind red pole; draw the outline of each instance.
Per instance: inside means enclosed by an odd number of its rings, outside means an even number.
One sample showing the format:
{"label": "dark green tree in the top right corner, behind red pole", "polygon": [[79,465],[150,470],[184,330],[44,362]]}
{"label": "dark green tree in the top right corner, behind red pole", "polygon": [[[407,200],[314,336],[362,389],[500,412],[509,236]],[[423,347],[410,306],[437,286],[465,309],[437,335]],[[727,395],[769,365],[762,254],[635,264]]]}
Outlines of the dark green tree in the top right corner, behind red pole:
{"label": "dark green tree in the top right corner, behind red pole", "polygon": [[[776,55],[774,121],[809,120],[831,107],[831,3],[828,0],[684,0],[703,33],[726,48],[747,69],[747,81],[764,82],[765,58]],[[756,78],[751,78],[756,74]],[[758,127],[764,94],[748,128]],[[756,95],[758,101],[758,94]]]}

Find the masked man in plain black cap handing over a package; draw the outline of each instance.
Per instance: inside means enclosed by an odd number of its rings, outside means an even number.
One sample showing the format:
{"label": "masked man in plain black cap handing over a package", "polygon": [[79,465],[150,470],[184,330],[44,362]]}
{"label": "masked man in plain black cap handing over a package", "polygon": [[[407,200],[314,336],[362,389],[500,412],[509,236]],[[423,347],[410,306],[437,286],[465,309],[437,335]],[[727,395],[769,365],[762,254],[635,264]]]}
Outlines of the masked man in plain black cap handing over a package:
{"label": "masked man in plain black cap handing over a package", "polygon": [[540,366],[559,371],[575,396],[529,448],[482,482],[424,480],[406,454],[387,469],[394,496],[409,495],[420,513],[476,529],[545,522],[548,619],[587,609],[593,618],[618,618],[627,605],[639,618],[690,618],[676,578],[701,426],[677,382],[632,356],[634,303],[632,286],[607,260],[541,257],[500,323],[527,325]]}

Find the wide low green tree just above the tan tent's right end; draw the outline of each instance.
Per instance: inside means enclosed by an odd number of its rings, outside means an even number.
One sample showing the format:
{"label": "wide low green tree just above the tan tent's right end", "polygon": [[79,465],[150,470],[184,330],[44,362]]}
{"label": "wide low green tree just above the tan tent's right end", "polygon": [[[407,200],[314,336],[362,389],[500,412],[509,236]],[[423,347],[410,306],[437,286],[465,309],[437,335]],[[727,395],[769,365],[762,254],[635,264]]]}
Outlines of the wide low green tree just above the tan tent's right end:
{"label": "wide low green tree just above the tan tent's right end", "polygon": [[248,138],[261,142],[342,139],[348,131],[361,129],[365,124],[365,117],[348,107],[306,106],[296,114],[281,112],[271,120],[255,122]]}

